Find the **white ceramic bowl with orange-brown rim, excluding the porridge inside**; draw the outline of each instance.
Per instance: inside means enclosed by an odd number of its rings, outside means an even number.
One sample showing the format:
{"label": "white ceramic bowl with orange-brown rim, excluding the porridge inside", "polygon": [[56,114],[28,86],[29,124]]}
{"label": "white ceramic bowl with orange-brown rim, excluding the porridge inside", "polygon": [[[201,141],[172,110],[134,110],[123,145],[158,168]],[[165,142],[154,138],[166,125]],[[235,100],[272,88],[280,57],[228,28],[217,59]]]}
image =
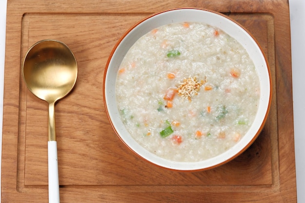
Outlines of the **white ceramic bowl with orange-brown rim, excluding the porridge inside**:
{"label": "white ceramic bowl with orange-brown rim, excluding the porridge inside", "polygon": [[[218,27],[241,43],[252,58],[260,79],[260,102],[255,120],[248,133],[232,148],[223,154],[200,162],[175,162],[158,157],[140,146],[125,129],[116,107],[115,79],[122,59],[134,42],[154,28],[175,22],[203,22]],[[135,154],[144,160],[164,168],[179,171],[206,170],[223,165],[245,151],[257,138],[264,127],[271,103],[271,75],[267,59],[257,41],[240,24],[227,16],[197,8],[177,8],[153,14],[142,19],[130,28],[116,43],[109,56],[104,74],[104,104],[111,125],[121,139]]]}

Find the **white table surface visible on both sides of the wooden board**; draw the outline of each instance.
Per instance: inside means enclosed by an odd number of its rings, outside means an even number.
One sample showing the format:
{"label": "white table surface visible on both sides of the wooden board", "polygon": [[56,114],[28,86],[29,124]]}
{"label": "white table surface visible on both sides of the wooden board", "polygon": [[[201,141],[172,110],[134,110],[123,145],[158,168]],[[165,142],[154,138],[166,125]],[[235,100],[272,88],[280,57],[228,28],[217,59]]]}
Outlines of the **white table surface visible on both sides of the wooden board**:
{"label": "white table surface visible on both sides of the wooden board", "polygon": [[[3,120],[6,5],[7,0],[0,0],[0,142],[2,142]],[[289,7],[292,48],[292,83],[297,198],[299,203],[305,203],[305,0],[289,0]]]}

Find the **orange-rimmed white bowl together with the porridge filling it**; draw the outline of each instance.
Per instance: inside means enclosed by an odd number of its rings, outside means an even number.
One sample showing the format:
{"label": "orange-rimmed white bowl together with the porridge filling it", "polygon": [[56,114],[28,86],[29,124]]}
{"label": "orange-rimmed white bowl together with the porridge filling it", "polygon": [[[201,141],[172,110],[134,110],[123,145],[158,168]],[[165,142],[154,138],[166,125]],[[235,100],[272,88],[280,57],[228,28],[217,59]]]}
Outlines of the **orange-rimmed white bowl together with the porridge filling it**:
{"label": "orange-rimmed white bowl together with the porridge filling it", "polygon": [[227,16],[177,8],[142,19],[116,43],[103,96],[136,155],[179,171],[221,166],[245,151],[271,103],[266,56]]}

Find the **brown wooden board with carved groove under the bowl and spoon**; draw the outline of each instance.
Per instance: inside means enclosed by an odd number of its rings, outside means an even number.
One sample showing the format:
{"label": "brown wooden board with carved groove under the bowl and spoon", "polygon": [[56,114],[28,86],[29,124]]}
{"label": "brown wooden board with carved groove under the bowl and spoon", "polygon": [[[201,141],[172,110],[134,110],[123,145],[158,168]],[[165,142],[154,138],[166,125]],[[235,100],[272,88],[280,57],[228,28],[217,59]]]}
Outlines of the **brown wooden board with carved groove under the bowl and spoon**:
{"label": "brown wooden board with carved groove under the bowl and spoon", "polygon": [[[104,68],[119,37],[175,7],[240,22],[259,41],[272,74],[272,106],[258,139],[207,171],[176,172],[138,158],[115,135],[103,104]],[[28,48],[49,38],[66,43],[79,68],[75,89],[55,107],[62,203],[297,202],[287,0],[8,0],[1,203],[48,202],[48,106],[27,90],[20,70]]]}

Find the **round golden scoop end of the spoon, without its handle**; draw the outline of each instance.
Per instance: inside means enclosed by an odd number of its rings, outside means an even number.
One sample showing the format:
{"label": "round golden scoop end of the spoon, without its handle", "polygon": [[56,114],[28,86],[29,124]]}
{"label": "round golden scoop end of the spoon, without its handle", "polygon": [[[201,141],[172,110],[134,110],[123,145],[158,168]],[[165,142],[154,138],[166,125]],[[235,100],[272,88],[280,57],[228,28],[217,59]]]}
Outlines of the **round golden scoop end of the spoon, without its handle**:
{"label": "round golden scoop end of the spoon, without its handle", "polygon": [[56,102],[66,96],[76,83],[75,56],[62,42],[39,41],[25,57],[23,77],[34,95],[47,102]]}

